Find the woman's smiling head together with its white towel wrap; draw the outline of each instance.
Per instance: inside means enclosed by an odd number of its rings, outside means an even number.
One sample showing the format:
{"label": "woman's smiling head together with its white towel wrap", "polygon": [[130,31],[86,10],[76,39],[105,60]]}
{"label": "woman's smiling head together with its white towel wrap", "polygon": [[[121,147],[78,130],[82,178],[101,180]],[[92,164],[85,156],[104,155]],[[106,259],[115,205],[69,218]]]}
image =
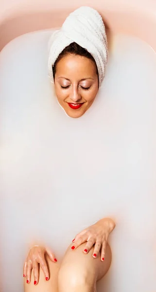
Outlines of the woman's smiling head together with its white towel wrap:
{"label": "woman's smiling head together with its white towel wrap", "polygon": [[72,118],[92,105],[104,79],[107,38],[100,14],[80,7],[50,39],[49,73],[60,106]]}

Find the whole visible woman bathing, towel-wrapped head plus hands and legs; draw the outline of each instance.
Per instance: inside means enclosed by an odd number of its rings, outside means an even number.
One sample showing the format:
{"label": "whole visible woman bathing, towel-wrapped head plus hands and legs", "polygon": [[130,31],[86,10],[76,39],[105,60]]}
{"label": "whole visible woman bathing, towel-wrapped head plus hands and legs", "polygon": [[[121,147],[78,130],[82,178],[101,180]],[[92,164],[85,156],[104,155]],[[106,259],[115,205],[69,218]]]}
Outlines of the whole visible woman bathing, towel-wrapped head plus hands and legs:
{"label": "whole visible woman bathing, towel-wrapped head plus hands and legs", "polygon": [[[81,117],[104,79],[107,40],[101,16],[80,7],[52,35],[50,45],[49,73],[58,103],[70,117]],[[48,247],[32,247],[24,264],[25,292],[95,292],[111,263],[107,238],[114,227],[112,219],[104,218],[80,232],[61,263]]]}

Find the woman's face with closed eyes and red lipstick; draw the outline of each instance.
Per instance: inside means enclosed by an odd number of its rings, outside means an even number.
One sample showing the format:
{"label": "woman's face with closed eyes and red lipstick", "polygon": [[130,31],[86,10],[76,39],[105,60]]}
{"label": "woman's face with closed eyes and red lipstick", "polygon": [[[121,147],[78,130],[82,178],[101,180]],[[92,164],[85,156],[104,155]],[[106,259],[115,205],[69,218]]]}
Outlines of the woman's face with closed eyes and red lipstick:
{"label": "woman's face with closed eyes and red lipstick", "polygon": [[95,63],[80,55],[66,55],[56,65],[55,92],[60,106],[72,118],[81,117],[98,92]]}

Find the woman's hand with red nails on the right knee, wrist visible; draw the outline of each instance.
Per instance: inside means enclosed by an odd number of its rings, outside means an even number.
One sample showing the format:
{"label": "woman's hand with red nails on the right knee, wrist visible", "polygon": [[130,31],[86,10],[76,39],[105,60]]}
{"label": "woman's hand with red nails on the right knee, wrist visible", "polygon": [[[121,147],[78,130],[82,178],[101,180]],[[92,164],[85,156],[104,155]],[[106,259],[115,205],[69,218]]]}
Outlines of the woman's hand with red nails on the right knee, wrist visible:
{"label": "woman's hand with red nails on the right knee, wrist visible", "polygon": [[93,257],[96,258],[101,250],[101,260],[104,261],[105,248],[109,234],[115,228],[115,223],[110,218],[104,218],[80,232],[72,241],[72,250],[87,241],[84,253],[87,254],[94,245]]}

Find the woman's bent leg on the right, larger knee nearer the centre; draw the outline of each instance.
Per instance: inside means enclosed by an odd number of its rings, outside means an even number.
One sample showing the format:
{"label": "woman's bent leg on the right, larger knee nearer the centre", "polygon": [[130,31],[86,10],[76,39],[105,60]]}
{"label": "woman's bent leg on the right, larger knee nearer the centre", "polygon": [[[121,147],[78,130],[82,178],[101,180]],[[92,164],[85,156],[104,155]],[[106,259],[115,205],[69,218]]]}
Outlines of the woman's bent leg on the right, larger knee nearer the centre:
{"label": "woman's bent leg on the right, larger knee nearer the centre", "polygon": [[93,258],[93,248],[88,254],[83,250],[86,243],[72,251],[69,246],[58,273],[59,292],[95,292],[96,282],[108,271],[111,264],[111,250],[106,246],[104,261],[100,254]]}

